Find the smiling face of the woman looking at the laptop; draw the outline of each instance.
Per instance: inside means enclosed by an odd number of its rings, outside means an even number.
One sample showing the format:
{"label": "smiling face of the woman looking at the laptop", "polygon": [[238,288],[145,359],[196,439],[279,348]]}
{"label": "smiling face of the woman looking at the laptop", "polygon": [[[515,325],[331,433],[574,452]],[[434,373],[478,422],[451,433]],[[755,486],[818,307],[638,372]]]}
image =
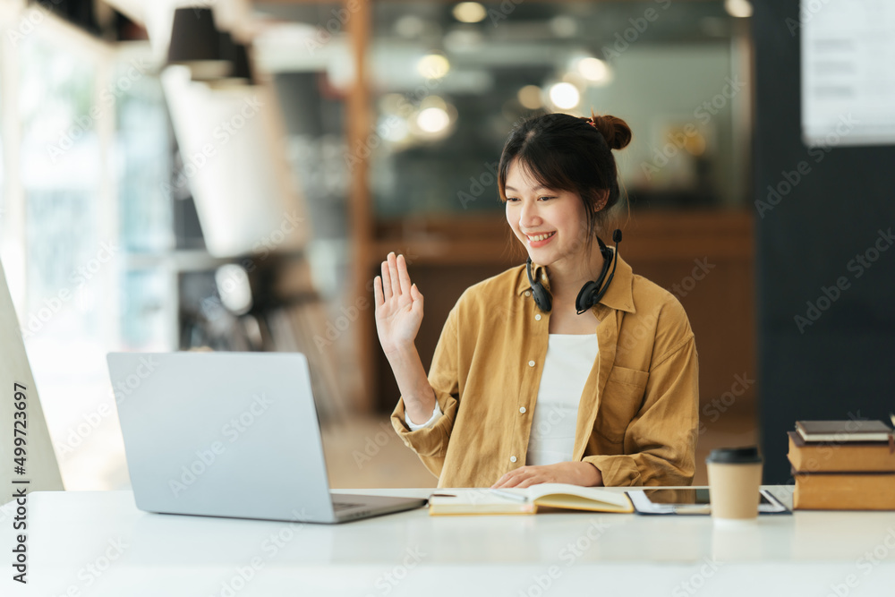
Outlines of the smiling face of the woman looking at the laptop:
{"label": "smiling face of the woman looking at the laptop", "polygon": [[513,160],[504,186],[507,222],[532,260],[544,266],[581,260],[587,241],[584,203],[577,193],[545,189]]}

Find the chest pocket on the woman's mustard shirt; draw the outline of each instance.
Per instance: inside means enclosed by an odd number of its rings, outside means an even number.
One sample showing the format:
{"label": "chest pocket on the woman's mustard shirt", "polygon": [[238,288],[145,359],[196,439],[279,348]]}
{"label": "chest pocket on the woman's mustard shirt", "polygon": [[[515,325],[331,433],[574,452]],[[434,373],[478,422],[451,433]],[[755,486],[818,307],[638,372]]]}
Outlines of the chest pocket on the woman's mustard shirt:
{"label": "chest pocket on the woman's mustard shirt", "polygon": [[647,371],[615,366],[609,371],[609,379],[603,388],[597,410],[595,431],[613,444],[625,440],[627,426],[644,404]]}

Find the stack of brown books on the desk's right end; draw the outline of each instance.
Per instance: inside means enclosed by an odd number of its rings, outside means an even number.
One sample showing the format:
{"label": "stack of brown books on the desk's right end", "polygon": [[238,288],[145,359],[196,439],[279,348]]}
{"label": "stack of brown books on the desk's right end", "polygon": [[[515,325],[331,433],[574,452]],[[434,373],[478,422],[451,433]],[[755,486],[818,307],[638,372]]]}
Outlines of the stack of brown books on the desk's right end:
{"label": "stack of brown books on the desk's right end", "polygon": [[789,431],[793,507],[895,509],[895,435],[882,421],[798,421]]}

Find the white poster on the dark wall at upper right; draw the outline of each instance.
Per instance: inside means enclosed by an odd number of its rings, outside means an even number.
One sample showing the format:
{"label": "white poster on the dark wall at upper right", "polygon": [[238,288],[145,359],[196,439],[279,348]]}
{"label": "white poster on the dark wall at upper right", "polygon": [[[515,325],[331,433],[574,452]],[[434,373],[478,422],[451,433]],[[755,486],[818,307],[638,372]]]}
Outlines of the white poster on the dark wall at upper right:
{"label": "white poster on the dark wall at upper right", "polygon": [[802,137],[808,146],[895,145],[895,2],[801,0]]}

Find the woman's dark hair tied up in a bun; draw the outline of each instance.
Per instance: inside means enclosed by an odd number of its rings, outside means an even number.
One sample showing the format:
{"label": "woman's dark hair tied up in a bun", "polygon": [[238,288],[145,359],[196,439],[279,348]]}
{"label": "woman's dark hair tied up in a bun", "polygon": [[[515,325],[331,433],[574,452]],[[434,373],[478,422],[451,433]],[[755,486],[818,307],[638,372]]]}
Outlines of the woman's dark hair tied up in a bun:
{"label": "woman's dark hair tied up in a bun", "polygon": [[[611,149],[624,149],[630,142],[630,127],[615,116],[545,114],[526,118],[513,127],[500,154],[500,200],[507,200],[507,173],[518,158],[519,166],[544,187],[576,192],[581,197],[590,245],[607,212],[618,203],[618,169]],[[605,205],[594,211],[607,190]]]}

